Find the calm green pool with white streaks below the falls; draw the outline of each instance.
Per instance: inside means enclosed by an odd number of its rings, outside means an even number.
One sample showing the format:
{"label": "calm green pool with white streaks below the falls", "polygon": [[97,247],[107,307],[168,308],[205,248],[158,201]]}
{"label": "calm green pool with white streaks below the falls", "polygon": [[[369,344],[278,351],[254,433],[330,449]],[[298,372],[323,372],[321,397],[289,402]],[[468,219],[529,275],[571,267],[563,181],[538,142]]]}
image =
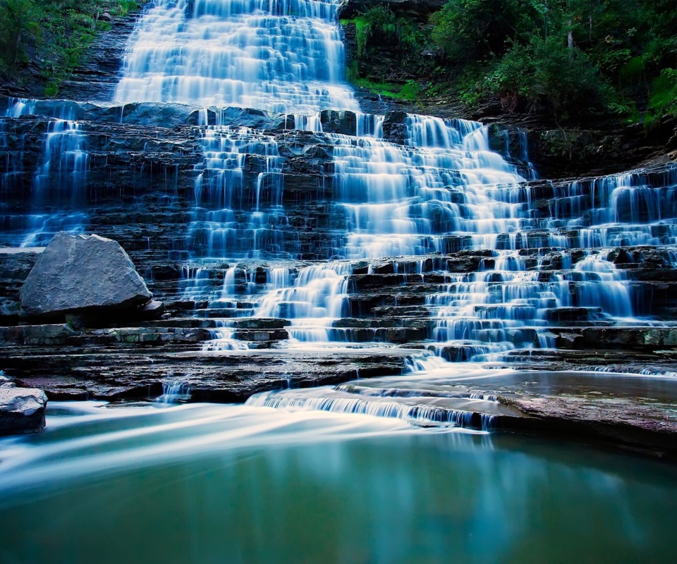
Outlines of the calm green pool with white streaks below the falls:
{"label": "calm green pool with white streaks below the falls", "polygon": [[51,403],[0,441],[1,563],[672,562],[677,468],[268,407]]}

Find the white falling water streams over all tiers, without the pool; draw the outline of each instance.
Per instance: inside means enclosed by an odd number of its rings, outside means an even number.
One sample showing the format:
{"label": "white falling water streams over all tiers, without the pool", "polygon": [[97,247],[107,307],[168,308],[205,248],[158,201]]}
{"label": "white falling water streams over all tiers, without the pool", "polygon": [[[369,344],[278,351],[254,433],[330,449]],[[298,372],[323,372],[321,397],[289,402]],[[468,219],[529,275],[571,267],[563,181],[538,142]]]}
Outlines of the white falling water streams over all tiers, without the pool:
{"label": "white falling water streams over all tiers, without the pool", "polygon": [[[663,178],[636,172],[537,184],[526,182],[536,175],[523,132],[513,154],[504,134],[506,158],[490,149],[488,128],[475,121],[410,114],[398,124],[402,136],[386,139],[384,116],[362,114],[343,80],[338,4],[158,0],[130,37],[116,101],[200,108],[203,158],[183,240],[191,264],[181,297],[200,304],[196,317],[214,319],[207,348],[244,346],[234,338],[231,318],[238,317],[287,319],[297,346],[351,341],[350,324],[336,320],[355,315],[356,269],[430,253],[437,253],[438,291],[425,298],[427,345],[446,359],[549,347],[547,329],[572,316],[581,324],[641,322],[633,317],[633,286],[610,249],[677,244],[677,167]],[[280,125],[265,132],[225,125],[225,106],[280,114]],[[26,245],[46,242],[57,229],[77,232],[87,219],[76,202],[86,189],[87,136],[71,106],[55,107],[42,159],[30,171],[36,213],[22,219],[19,243]],[[353,112],[354,134],[323,128],[329,109]],[[5,120],[32,111],[34,103],[15,100]],[[2,190],[14,190],[27,171],[19,171],[20,147],[3,143]],[[331,233],[327,262],[312,264],[293,262],[303,245],[285,208],[289,161],[306,143],[328,155],[318,159],[326,165],[322,178],[331,176],[335,222],[345,219]],[[53,214],[54,206],[80,211]],[[486,255],[470,274],[441,258],[477,250]],[[528,258],[534,254],[538,264]],[[423,279],[432,270],[420,260]],[[223,276],[216,285],[214,269]],[[373,334],[372,341],[383,340]]]}

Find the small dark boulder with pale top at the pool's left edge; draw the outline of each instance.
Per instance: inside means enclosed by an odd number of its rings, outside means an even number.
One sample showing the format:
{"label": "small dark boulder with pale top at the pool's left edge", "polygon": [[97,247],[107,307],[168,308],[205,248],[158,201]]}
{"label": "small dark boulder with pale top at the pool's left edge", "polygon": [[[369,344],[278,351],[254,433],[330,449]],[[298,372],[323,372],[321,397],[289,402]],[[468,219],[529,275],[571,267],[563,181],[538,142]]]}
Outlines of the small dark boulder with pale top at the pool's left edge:
{"label": "small dark boulder with pale top at the pool's left edge", "polygon": [[0,436],[39,433],[44,429],[47,396],[35,388],[16,388],[0,380]]}

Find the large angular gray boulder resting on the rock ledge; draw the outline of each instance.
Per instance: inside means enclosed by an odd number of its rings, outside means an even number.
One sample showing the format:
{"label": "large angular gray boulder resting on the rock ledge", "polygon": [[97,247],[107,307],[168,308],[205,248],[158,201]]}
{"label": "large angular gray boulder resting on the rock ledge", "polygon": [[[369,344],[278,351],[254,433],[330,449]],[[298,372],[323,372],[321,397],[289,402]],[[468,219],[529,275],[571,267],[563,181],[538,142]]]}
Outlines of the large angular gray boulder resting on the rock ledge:
{"label": "large angular gray boulder resting on the rock ledge", "polygon": [[123,248],[99,235],[57,233],[21,288],[28,317],[95,314],[143,305],[152,298]]}

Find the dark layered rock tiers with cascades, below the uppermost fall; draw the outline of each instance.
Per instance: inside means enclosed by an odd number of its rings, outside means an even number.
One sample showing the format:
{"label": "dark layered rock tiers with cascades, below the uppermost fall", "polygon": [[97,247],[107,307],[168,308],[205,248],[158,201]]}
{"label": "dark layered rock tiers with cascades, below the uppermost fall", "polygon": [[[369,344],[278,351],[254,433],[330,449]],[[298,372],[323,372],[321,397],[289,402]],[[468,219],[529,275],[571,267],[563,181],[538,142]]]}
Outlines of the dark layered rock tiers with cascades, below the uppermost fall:
{"label": "dark layered rock tiers with cascades, below the uppermost fall", "polygon": [[[8,151],[18,213],[6,216],[6,243],[44,244],[75,217],[72,233],[119,240],[174,325],[212,331],[201,339],[545,362],[562,354],[539,349],[650,353],[644,319],[673,317],[671,165],[535,180],[518,137],[501,158],[491,129],[402,112],[20,104],[8,113],[28,114],[4,120],[6,145],[38,150]],[[57,109],[82,119],[32,113]],[[30,232],[33,218],[42,224]],[[637,328],[606,329],[619,323]],[[134,342],[167,342],[143,334]]]}

